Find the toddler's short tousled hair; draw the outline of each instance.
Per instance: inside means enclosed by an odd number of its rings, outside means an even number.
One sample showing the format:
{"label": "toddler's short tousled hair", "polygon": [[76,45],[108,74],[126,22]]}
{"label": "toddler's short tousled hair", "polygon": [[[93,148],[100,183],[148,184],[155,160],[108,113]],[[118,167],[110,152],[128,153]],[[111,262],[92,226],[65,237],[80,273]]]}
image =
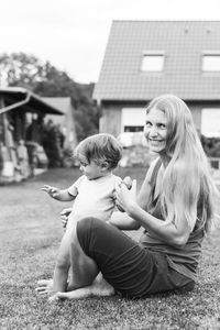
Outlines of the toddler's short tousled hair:
{"label": "toddler's short tousled hair", "polygon": [[94,161],[97,165],[108,164],[108,169],[118,166],[122,157],[122,146],[111,134],[100,133],[82,140],[74,151],[74,156],[85,156],[88,163]]}

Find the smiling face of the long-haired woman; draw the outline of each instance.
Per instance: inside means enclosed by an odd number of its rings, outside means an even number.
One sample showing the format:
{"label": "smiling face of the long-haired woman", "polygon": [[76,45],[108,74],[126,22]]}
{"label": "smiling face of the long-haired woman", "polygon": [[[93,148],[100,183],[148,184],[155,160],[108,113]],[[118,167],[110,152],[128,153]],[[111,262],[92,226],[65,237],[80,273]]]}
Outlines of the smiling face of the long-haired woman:
{"label": "smiling face of the long-haired woman", "polygon": [[153,108],[146,114],[144,135],[146,138],[150,151],[163,153],[167,140],[167,119],[163,111]]}

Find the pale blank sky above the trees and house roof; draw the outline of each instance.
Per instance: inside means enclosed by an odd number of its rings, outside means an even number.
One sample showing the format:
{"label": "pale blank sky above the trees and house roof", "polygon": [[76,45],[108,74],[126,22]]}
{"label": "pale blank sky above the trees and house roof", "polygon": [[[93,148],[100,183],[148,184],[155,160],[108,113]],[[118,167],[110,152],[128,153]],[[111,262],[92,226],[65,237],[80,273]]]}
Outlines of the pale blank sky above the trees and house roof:
{"label": "pale blank sky above the trees and house roof", "polygon": [[220,20],[219,0],[0,0],[0,53],[97,82],[113,20]]}

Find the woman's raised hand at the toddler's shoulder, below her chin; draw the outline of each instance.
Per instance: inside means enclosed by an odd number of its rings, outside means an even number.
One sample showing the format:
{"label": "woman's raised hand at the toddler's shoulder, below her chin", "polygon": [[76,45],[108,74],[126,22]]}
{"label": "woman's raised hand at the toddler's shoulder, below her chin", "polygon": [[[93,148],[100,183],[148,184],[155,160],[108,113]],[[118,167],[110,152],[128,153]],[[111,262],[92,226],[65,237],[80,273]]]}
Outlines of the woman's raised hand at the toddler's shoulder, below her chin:
{"label": "woman's raised hand at the toddler's shoulder, below her chin", "polygon": [[131,207],[136,204],[136,180],[132,182],[132,188],[128,189],[123,182],[116,188],[116,202],[127,213],[130,212]]}

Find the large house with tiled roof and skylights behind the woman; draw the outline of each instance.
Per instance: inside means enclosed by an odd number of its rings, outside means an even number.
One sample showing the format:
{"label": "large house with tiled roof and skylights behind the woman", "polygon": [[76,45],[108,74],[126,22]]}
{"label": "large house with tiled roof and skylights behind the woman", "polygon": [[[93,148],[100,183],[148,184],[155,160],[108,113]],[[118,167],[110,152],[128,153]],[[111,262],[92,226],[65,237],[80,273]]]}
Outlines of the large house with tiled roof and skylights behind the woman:
{"label": "large house with tiled roof and skylights behind the woman", "polygon": [[220,136],[220,21],[113,21],[94,92],[100,131],[141,131],[163,94],[185,100],[199,133]]}

